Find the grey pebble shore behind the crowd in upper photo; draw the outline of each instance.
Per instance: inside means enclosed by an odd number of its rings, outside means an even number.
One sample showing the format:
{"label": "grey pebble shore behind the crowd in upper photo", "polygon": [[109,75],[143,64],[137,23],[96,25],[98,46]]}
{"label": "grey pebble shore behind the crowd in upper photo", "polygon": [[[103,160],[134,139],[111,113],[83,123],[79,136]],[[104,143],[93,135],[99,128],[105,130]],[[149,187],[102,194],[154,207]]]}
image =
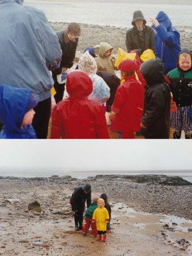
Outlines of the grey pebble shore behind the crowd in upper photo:
{"label": "grey pebble shore behind the crowd in upper photo", "polygon": [[[69,24],[67,22],[49,22],[55,31],[63,30]],[[87,47],[94,47],[100,42],[107,42],[114,48],[117,54],[118,47],[126,51],[125,37],[128,27],[101,26],[86,23],[79,23],[81,26],[81,36],[79,37],[77,52],[81,52]],[[181,35],[181,47],[192,49],[192,27],[175,27]]]}

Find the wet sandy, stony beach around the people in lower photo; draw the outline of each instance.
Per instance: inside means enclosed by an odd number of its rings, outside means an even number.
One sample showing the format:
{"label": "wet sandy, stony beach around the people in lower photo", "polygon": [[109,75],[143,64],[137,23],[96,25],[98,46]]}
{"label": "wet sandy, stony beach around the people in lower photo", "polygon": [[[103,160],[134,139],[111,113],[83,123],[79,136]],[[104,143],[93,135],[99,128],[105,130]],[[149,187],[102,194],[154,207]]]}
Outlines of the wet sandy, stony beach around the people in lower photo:
{"label": "wet sandy, stony beach around the people in lower photo", "polygon": [[[85,182],[92,197],[109,197],[112,230],[106,243],[74,231],[69,197]],[[190,184],[159,175],[1,177],[0,255],[191,255]],[[40,210],[27,209],[33,201]]]}

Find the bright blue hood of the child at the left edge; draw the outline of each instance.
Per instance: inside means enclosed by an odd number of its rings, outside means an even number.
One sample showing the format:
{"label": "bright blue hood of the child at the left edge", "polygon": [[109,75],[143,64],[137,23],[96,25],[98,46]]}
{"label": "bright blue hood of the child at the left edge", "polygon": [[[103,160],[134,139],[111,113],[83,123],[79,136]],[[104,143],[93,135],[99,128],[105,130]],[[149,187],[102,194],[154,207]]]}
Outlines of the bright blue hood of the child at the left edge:
{"label": "bright blue hood of the child at the left edge", "polygon": [[5,129],[15,132],[25,132],[20,128],[23,117],[28,111],[31,91],[13,85],[0,85],[0,122]]}

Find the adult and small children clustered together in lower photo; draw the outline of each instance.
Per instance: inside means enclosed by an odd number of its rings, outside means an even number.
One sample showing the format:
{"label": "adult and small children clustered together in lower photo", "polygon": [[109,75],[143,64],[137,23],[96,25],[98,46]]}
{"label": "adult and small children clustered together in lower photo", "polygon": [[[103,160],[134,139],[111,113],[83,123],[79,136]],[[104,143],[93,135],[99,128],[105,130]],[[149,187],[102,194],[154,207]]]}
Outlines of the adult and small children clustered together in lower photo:
{"label": "adult and small children clustered together in lower photo", "polygon": [[[83,213],[87,210],[83,222]],[[89,183],[75,188],[70,198],[71,210],[74,211],[75,230],[82,230],[86,235],[91,226],[92,234],[97,241],[106,242],[107,233],[110,233],[111,207],[105,193],[100,198],[95,197],[91,201],[91,185]],[[103,235],[103,237],[102,237]]]}

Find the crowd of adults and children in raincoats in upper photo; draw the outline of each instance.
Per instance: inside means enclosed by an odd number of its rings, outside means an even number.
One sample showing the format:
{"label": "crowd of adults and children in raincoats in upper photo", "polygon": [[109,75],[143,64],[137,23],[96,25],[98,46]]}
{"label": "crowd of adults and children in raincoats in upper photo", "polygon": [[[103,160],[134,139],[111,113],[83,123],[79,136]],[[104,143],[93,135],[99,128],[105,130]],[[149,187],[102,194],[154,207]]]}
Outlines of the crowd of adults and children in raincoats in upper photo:
{"label": "crowd of adults and children in raincoats in upper photo", "polygon": [[[51,115],[52,139],[108,139],[106,111],[119,138],[133,139],[140,131],[147,139],[166,139],[170,126],[174,138],[182,130],[192,138],[191,52],[181,50],[179,32],[163,11],[150,19],[152,27],[141,11],[134,12],[121,63],[113,46],[101,42],[98,56],[87,47],[69,72],[79,25],[55,33],[42,11],[22,3],[0,1],[0,138],[45,139]],[[146,58],[149,52],[155,55]],[[62,74],[67,77],[61,83]]]}

